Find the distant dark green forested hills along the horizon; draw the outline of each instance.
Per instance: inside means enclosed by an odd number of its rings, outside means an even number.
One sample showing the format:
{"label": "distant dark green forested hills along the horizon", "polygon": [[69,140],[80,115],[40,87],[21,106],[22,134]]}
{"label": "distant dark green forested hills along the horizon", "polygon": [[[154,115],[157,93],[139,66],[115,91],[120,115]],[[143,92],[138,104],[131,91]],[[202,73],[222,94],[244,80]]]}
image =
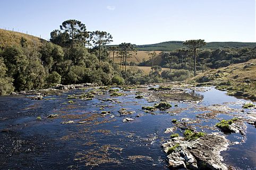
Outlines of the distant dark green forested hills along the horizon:
{"label": "distant dark green forested hills along the horizon", "polygon": [[[183,48],[183,41],[167,41],[156,44],[138,45],[138,51],[172,51]],[[256,47],[255,42],[208,42],[204,47],[206,49],[217,49],[217,48],[254,48]]]}

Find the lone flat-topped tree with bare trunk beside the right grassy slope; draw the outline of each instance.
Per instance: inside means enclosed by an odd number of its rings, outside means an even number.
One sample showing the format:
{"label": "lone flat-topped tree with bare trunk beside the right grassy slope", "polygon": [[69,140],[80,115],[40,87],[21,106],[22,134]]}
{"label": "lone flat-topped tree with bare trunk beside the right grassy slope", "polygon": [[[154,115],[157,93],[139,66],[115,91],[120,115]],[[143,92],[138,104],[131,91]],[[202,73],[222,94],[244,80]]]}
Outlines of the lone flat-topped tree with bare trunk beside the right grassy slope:
{"label": "lone flat-topped tree with bare trunk beside the right grassy slope", "polygon": [[192,49],[194,52],[194,76],[197,75],[196,71],[197,71],[197,49],[201,48],[203,46],[206,46],[206,42],[204,42],[204,40],[186,40],[185,42],[183,42],[183,44],[188,47],[189,49]]}

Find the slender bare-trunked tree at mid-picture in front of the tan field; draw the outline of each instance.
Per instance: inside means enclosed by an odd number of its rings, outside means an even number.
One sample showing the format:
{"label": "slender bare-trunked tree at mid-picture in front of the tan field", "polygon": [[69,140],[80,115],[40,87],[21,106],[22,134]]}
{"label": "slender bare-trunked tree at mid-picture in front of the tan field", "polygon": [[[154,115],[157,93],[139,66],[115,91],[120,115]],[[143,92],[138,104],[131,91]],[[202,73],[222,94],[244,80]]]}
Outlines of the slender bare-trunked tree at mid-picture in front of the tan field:
{"label": "slender bare-trunked tree at mid-picture in front of the tan field", "polygon": [[119,48],[120,50],[123,52],[123,57],[125,57],[125,84],[126,84],[126,77],[127,77],[127,73],[126,73],[126,66],[127,66],[127,58],[132,57],[132,53],[136,52],[135,49],[135,44],[131,44],[131,43],[121,43],[119,44]]}

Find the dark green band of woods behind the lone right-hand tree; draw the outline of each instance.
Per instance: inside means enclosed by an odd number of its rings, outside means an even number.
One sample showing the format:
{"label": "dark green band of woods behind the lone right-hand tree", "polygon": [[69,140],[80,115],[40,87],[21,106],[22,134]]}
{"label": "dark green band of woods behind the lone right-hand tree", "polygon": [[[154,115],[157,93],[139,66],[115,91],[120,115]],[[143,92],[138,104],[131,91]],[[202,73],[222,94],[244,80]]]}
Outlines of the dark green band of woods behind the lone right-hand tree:
{"label": "dark green band of woods behind the lone right-hand tree", "polygon": [[[197,52],[197,70],[226,67],[255,58],[256,47],[199,49]],[[193,59],[193,52],[182,48],[174,51],[163,51],[155,57],[153,62],[154,65],[165,68],[193,70]],[[142,61],[139,66],[152,66],[152,59]]]}

